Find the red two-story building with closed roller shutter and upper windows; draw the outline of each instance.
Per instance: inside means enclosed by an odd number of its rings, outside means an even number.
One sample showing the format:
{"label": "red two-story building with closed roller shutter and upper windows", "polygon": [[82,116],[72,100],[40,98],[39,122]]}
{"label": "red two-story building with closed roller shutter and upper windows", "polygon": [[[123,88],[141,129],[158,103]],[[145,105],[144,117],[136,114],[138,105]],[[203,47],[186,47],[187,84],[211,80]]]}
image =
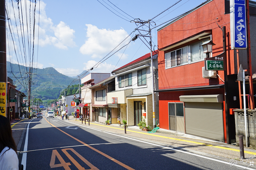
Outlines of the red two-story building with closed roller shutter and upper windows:
{"label": "red two-story building with closed roller shutter and upper windows", "polygon": [[[251,35],[255,35],[255,6],[250,1]],[[222,54],[223,26],[226,55]],[[204,71],[206,54],[201,45],[209,40],[216,44],[210,57],[227,58],[227,71]],[[255,44],[251,39],[251,46]],[[226,143],[235,140],[229,109],[239,108],[239,91],[236,50],[230,46],[229,1],[208,0],[180,15],[158,29],[158,46],[160,128]],[[251,50],[255,54],[255,48]],[[239,50],[239,63],[247,68],[246,50]]]}

